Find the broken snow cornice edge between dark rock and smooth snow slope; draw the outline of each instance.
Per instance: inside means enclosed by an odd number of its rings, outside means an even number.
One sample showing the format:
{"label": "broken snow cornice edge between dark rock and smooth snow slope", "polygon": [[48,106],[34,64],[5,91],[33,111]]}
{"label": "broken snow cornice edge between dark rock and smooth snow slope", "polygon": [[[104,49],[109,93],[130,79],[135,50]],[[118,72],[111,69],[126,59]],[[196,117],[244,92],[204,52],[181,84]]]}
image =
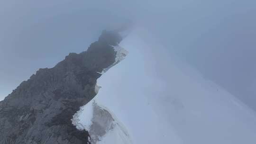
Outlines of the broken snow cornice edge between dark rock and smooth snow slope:
{"label": "broken snow cornice edge between dark rock and smooth snow slope", "polygon": [[[98,72],[102,75],[124,60],[128,54],[128,51],[119,45],[112,47],[116,52],[115,62],[108,68],[103,69],[102,72]],[[101,86],[96,84],[95,93],[98,94],[100,89]],[[85,129],[89,132],[91,144],[132,144],[128,130],[108,108],[98,102],[97,96],[81,107],[71,120],[77,129]]]}

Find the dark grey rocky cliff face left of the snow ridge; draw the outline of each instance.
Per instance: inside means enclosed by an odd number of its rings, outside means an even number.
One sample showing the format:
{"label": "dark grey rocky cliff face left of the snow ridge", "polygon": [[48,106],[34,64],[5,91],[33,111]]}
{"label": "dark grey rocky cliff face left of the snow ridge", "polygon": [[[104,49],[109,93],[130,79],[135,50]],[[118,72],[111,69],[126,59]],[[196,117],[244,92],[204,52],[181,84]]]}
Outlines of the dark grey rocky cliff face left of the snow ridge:
{"label": "dark grey rocky cliff face left of the snow ridge", "polygon": [[71,53],[22,82],[0,102],[0,144],[90,144],[88,132],[71,119],[96,95],[99,72],[115,63],[113,46],[121,40],[103,31],[86,52]]}

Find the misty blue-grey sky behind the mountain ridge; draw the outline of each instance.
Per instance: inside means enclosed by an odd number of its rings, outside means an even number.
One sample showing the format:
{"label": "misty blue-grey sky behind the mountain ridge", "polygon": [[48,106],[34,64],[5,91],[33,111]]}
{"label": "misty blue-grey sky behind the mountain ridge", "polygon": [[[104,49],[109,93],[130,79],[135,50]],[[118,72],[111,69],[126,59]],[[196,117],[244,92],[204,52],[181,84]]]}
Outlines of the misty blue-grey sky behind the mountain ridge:
{"label": "misty blue-grey sky behind the mountain ridge", "polygon": [[256,0],[0,0],[0,99],[126,22],[256,110]]}

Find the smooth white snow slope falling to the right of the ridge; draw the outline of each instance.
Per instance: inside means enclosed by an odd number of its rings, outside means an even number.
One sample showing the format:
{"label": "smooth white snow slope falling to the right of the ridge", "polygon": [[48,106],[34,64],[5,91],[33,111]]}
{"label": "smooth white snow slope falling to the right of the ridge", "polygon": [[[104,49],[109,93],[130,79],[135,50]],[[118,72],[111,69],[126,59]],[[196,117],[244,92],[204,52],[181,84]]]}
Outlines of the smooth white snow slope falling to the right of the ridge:
{"label": "smooth white snow slope falling to the right of the ridge", "polygon": [[[120,45],[129,54],[98,79],[102,88],[94,100],[115,114],[133,144],[256,144],[254,111],[147,31],[134,30]],[[80,115],[83,125],[90,110]],[[120,131],[109,131],[98,144],[125,144],[112,141]]]}

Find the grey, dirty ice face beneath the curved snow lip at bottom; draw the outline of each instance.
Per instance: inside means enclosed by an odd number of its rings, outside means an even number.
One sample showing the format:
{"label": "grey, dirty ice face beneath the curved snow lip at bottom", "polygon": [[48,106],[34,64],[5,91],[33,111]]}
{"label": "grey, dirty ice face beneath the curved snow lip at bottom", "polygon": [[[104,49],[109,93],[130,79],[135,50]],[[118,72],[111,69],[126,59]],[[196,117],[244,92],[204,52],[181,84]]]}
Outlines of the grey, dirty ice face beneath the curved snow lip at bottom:
{"label": "grey, dirty ice face beneath the curved snow lip at bottom", "polygon": [[93,117],[89,134],[91,144],[132,144],[125,126],[110,110],[93,100]]}

